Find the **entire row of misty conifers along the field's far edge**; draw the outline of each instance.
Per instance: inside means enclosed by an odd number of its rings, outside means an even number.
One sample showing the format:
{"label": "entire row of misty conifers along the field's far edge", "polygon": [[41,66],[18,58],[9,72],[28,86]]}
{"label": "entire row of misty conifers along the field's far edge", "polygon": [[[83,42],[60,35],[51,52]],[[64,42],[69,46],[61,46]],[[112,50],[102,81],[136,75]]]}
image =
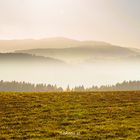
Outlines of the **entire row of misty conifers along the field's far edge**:
{"label": "entire row of misty conifers along the field's far edge", "polygon": [[5,82],[0,81],[0,91],[15,91],[15,92],[62,92],[62,91],[131,91],[140,90],[140,81],[124,81],[122,83],[117,83],[116,85],[106,85],[106,86],[92,86],[90,88],[85,88],[84,86],[76,86],[70,88],[69,86],[64,90],[62,87],[57,87],[56,85],[46,85],[46,84],[31,84],[25,82]]}

